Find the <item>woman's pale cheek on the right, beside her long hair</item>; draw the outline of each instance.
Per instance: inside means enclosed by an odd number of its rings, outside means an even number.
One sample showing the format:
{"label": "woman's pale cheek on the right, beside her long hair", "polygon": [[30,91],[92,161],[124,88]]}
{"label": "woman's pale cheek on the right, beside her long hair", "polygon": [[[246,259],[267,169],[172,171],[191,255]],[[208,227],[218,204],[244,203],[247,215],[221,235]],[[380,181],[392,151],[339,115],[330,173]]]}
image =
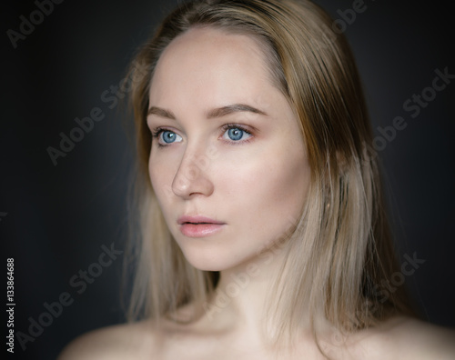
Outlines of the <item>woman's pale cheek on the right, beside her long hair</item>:
{"label": "woman's pale cheek on the right, beside her long hair", "polygon": [[283,226],[298,221],[309,184],[303,152],[262,154],[225,168],[223,174],[229,174],[220,180],[228,204],[235,205],[238,221],[248,228],[272,234],[286,231]]}

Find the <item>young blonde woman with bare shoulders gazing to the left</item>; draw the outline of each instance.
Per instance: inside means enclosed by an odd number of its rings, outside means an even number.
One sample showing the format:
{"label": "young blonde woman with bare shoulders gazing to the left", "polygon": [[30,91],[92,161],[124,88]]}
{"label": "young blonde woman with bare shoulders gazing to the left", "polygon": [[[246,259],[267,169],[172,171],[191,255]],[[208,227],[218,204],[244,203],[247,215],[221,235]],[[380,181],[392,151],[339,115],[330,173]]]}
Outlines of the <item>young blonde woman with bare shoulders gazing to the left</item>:
{"label": "young blonde woman with bare shoulders gazing to the left", "polygon": [[131,68],[132,321],[67,359],[454,359],[392,251],[349,45],[308,0],[197,0]]}

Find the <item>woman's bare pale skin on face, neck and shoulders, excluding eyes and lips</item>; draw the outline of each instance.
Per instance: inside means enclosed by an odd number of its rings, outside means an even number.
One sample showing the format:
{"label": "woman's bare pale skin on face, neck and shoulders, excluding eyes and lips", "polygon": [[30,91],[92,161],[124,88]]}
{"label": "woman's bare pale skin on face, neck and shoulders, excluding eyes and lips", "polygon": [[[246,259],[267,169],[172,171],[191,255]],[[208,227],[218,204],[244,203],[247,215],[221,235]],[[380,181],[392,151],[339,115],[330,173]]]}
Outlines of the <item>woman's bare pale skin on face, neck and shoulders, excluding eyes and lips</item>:
{"label": "woman's bare pale skin on face, neck and shoulders, excluding eyes and lips", "polygon": [[[232,104],[267,115],[208,116]],[[167,47],[151,85],[150,107],[151,131],[167,131],[167,137],[162,132],[154,138],[150,178],[177,244],[192,265],[220,271],[220,288],[242,284],[236,279],[248,284],[224,305],[213,299],[215,310],[189,325],[164,320],[158,330],[147,320],[110,326],[76,339],[59,359],[274,358],[261,316],[283,252],[261,250],[288,231],[305,202],[310,172],[297,119],[270,80],[259,45],[209,28],[190,30]],[[226,124],[245,126],[251,135],[234,144]],[[171,137],[176,141],[167,144],[164,139]],[[180,215],[205,215],[223,225],[215,235],[188,237],[177,224]],[[345,345],[332,341],[323,348],[337,359],[449,360],[455,358],[453,340],[450,330],[397,317],[350,335]],[[285,358],[324,357],[310,331],[302,330],[294,353]]]}

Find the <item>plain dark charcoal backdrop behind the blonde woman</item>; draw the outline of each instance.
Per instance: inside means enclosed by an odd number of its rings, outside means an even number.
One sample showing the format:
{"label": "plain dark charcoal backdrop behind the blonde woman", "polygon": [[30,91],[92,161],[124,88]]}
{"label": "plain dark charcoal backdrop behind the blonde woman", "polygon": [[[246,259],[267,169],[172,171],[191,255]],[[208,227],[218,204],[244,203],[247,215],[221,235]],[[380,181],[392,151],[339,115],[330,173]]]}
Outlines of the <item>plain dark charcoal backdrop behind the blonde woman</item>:
{"label": "plain dark charcoal backdrop behind the blonde woman", "polygon": [[[352,1],[317,3],[334,18],[352,7]],[[65,1],[16,49],[6,31],[18,31],[19,16],[28,18],[36,5],[2,5],[0,213],[7,215],[0,214],[0,234],[2,261],[15,258],[15,330],[27,333],[28,318],[36,320],[44,303],[63,292],[74,299],[25,352],[16,340],[8,357],[55,358],[76,335],[124,320],[122,255],[81,295],[69,279],[97,262],[101,245],[125,247],[131,146],[123,113],[100,96],[118,85],[136,46],[175,4]],[[396,116],[408,123],[380,152],[399,253],[426,260],[406,284],[430,322],[455,326],[455,81],[415,119],[402,108],[431,85],[436,69],[448,66],[455,74],[450,11],[433,4],[365,0],[367,10],[347,25],[346,35],[374,128]],[[68,135],[74,119],[94,107],[105,119],[54,166],[47,146],[58,147],[59,133]]]}

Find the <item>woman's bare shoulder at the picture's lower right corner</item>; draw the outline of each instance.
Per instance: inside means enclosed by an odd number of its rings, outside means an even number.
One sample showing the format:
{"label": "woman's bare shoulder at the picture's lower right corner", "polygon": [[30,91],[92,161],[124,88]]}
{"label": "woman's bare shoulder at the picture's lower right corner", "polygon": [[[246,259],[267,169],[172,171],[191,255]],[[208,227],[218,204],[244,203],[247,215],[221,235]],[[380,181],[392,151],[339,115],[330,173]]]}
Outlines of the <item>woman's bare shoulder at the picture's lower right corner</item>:
{"label": "woman's bare shoulder at the picture's lower right corner", "polygon": [[418,319],[396,317],[370,329],[364,336],[364,341],[360,343],[367,345],[373,355],[371,358],[455,359],[455,329],[432,325]]}

